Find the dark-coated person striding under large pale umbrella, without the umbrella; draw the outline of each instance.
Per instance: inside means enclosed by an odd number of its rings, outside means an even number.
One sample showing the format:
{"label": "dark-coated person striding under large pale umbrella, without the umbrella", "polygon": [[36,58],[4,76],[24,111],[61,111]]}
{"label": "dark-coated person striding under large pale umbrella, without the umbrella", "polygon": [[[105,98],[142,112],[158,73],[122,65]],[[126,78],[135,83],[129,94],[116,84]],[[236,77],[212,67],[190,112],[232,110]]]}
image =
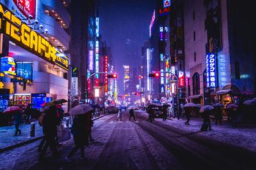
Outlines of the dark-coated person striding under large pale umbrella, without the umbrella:
{"label": "dark-coated person striding under large pale umbrella, without the umbrella", "polygon": [[70,162],[70,158],[80,148],[81,159],[84,158],[84,146],[88,146],[88,122],[87,114],[76,115],[71,127],[71,133],[73,134],[74,143],[76,146],[72,148],[71,152],[65,158]]}

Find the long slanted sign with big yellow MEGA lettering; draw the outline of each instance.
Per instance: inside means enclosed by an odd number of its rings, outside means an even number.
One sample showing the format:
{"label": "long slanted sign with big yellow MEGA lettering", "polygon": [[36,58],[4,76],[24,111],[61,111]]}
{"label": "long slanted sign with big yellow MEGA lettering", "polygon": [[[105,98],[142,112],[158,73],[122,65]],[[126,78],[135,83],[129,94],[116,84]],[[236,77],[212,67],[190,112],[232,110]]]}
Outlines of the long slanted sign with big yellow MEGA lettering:
{"label": "long slanted sign with big yellow MEGA lettering", "polygon": [[[52,64],[61,65],[61,67],[68,70],[68,58],[63,57],[64,54],[60,55],[61,52],[58,52],[49,41],[40,36],[36,31],[33,31],[28,25],[21,23],[21,20],[15,17],[3,4],[0,4],[0,13],[8,18],[7,20],[0,18],[0,32],[9,36],[10,41],[38,55],[38,57]],[[10,23],[10,20],[12,23]]]}

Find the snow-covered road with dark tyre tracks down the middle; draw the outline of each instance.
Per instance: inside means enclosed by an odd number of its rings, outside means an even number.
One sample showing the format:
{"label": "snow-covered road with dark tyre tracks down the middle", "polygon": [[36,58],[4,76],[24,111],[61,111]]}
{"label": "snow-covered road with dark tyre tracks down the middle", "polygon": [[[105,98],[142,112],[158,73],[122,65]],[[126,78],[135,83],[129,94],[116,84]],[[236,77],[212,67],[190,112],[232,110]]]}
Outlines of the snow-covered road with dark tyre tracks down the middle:
{"label": "snow-covered road with dark tyre tracks down the middle", "polygon": [[72,140],[58,148],[61,155],[38,162],[36,141],[0,154],[0,169],[255,169],[256,153],[220,140],[172,126],[172,120],[147,122],[145,113],[136,112],[136,122],[123,113],[95,120],[95,139],[79,151],[72,162],[65,157],[74,146]]}

